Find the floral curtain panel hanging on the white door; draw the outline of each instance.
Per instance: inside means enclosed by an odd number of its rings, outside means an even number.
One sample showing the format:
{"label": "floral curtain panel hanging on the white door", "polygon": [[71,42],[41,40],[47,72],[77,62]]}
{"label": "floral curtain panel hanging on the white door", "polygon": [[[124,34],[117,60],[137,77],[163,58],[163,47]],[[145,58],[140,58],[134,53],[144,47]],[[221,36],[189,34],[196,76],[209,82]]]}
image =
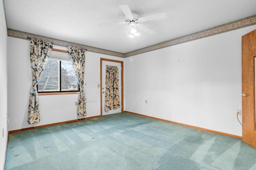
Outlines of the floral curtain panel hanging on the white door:
{"label": "floral curtain panel hanging on the white door", "polygon": [[119,107],[118,67],[106,65],[105,111]]}

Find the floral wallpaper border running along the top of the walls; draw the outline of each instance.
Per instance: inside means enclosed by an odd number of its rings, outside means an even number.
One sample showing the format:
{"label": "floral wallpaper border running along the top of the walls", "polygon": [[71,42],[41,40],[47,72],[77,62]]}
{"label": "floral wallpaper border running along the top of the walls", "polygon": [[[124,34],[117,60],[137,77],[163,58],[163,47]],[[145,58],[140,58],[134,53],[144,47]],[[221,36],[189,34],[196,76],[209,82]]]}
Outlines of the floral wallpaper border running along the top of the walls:
{"label": "floral wallpaper border running along the top of the walls", "polygon": [[122,58],[126,58],[126,57],[130,57],[133,55],[138,55],[141,53],[146,53],[149,51],[154,51],[154,50],[158,50],[158,49],[162,49],[165,47],[170,47],[172,45],[177,45],[177,44],[181,44],[181,43],[186,43],[188,41],[193,41],[196,39],[200,39],[200,38],[205,38],[205,37],[209,37],[212,35],[216,35],[216,34],[220,34],[220,33],[224,33],[224,32],[228,32],[228,31],[233,31],[235,29],[240,29],[243,27],[248,27],[251,25],[255,25],[256,24],[256,15],[254,16],[250,16],[247,18],[243,18],[241,20],[236,20],[230,23],[226,23],[223,25],[219,25],[217,27],[213,27],[210,29],[206,29],[203,31],[199,31],[196,33],[192,33],[190,35],[185,35],[183,37],[179,37],[176,39],[171,39],[169,41],[165,41],[156,45],[152,45],[149,47],[145,47],[142,49],[138,49],[135,51],[131,51],[128,53],[118,53],[115,51],[109,51],[109,50],[105,50],[105,49],[99,49],[96,47],[91,47],[91,46],[86,46],[86,45],[82,45],[82,44],[77,44],[77,43],[72,43],[72,42],[68,42],[68,41],[63,41],[63,40],[59,40],[59,39],[53,39],[50,37],[44,37],[41,35],[35,35],[32,33],[26,33],[26,32],[22,32],[22,31],[18,31],[18,30],[14,30],[14,29],[9,29],[8,28],[8,36],[9,37],[16,37],[16,38],[20,38],[20,39],[31,39],[31,38],[37,38],[37,39],[42,39],[44,41],[50,41],[53,42],[55,45],[60,45],[60,46],[76,46],[76,47],[81,47],[81,48],[85,48],[87,49],[87,51],[90,52],[94,52],[94,53],[100,53],[100,54],[106,54],[106,55],[112,55],[112,56],[116,56],[116,57],[122,57]]}

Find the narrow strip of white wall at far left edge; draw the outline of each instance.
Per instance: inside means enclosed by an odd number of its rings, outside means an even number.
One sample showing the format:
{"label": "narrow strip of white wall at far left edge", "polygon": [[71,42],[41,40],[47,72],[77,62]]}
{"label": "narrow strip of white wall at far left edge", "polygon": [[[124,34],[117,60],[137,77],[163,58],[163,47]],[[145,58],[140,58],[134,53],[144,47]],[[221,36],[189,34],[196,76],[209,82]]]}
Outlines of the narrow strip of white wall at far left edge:
{"label": "narrow strip of white wall at far left edge", "polygon": [[[4,160],[8,136],[7,128],[7,30],[3,2],[0,2],[0,169]],[[4,129],[4,131],[3,131]],[[4,133],[4,137],[3,134]]]}

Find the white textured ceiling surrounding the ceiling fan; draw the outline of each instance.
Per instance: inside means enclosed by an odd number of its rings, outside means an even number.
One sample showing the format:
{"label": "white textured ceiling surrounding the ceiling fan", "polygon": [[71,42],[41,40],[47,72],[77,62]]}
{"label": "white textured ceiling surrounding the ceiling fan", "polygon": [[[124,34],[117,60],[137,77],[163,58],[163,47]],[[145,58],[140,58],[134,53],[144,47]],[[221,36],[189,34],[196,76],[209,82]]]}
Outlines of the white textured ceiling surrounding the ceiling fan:
{"label": "white textured ceiling surrounding the ceiling fan", "polygon": [[[9,29],[100,49],[128,53],[256,14],[256,0],[4,0]],[[127,37],[118,5],[140,17],[165,12],[166,19],[143,22],[156,31]]]}

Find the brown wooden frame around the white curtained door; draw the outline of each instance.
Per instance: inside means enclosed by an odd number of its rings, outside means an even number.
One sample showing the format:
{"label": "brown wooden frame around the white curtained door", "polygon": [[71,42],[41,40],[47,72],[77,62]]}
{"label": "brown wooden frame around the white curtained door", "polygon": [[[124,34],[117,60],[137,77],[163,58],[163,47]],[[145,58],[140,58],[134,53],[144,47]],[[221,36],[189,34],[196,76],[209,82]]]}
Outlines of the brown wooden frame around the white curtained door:
{"label": "brown wooden frame around the white curtained door", "polygon": [[[121,104],[122,104],[122,112],[124,112],[124,62],[123,61],[118,61],[118,60],[111,60],[111,59],[104,59],[100,58],[100,115],[102,116],[102,61],[111,61],[111,62],[116,62],[116,63],[121,63]],[[105,105],[105,104],[104,104]]]}

